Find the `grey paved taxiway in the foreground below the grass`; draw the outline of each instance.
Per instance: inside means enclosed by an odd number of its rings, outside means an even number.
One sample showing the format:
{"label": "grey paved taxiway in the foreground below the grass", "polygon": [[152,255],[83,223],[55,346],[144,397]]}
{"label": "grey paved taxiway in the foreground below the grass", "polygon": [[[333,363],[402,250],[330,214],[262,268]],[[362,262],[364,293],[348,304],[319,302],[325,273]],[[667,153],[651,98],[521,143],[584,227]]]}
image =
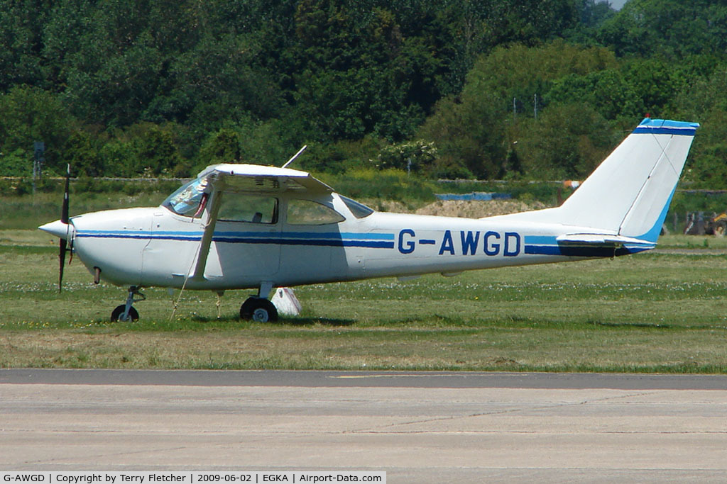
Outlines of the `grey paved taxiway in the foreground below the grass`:
{"label": "grey paved taxiway in the foreground below the grass", "polygon": [[0,369],[3,470],[721,482],[727,377]]}

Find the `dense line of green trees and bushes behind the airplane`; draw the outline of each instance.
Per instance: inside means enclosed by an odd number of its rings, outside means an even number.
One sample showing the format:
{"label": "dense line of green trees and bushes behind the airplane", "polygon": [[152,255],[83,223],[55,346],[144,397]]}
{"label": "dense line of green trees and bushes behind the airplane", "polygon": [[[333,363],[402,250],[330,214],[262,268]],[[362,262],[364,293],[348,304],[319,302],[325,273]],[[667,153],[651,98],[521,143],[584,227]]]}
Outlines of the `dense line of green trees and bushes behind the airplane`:
{"label": "dense line of green trees and bushes behind the airplane", "polygon": [[727,1],[0,0],[0,175],[585,176],[647,112],[727,168]]}

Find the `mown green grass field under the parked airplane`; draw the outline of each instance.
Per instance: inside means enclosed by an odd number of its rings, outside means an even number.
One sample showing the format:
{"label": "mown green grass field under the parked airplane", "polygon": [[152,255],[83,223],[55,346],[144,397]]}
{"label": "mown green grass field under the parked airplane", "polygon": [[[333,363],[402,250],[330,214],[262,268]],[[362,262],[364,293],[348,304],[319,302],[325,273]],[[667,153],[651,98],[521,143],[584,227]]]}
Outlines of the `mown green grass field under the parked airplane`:
{"label": "mown green grass field under the parked airplane", "polygon": [[139,322],[112,324],[124,289],[95,286],[73,261],[59,294],[55,241],[0,230],[0,366],[722,373],[727,251],[707,241],[707,251],[300,287],[304,313],[277,324],[238,321],[244,291],[225,295],[220,319],[212,293],[185,292],[170,320],[172,296],[149,289]]}

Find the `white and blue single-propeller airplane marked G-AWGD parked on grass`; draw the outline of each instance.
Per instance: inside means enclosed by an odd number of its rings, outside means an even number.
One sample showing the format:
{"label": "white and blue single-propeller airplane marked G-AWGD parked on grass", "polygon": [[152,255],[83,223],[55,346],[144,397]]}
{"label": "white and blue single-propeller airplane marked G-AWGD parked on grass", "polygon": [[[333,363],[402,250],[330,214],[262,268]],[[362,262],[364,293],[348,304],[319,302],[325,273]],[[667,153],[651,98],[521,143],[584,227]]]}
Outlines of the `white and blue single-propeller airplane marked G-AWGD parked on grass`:
{"label": "white and blue single-propeller airplane marked G-AWGD parked on grass", "polygon": [[[63,216],[60,237],[95,276],[129,287],[257,289],[240,316],[273,321],[274,287],[611,258],[656,246],[697,123],[644,119],[563,205],[488,218],[379,213],[303,171],[222,164],[156,208]],[[60,283],[60,281],[59,281]]]}

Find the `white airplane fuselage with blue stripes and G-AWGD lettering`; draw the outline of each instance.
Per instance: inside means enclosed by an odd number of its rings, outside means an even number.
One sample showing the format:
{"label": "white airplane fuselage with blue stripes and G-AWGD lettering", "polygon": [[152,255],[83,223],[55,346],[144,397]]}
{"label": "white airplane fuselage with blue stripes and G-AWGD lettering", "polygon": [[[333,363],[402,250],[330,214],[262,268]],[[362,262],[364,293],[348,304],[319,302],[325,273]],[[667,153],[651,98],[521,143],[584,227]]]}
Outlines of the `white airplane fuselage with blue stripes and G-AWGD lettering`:
{"label": "white airplane fuselage with blue stripes and G-AWGD lettering", "polygon": [[[289,197],[277,197],[286,213]],[[315,200],[312,200],[315,201]],[[374,212],[356,218],[337,194],[324,202],[337,223],[218,220],[204,277],[189,278],[207,221],[164,207],[106,210],[72,219],[74,250],[118,285],[233,290],[612,257],[631,249],[565,247],[573,226]],[[589,229],[593,231],[593,229]],[[171,255],[171,256],[170,256]]]}

